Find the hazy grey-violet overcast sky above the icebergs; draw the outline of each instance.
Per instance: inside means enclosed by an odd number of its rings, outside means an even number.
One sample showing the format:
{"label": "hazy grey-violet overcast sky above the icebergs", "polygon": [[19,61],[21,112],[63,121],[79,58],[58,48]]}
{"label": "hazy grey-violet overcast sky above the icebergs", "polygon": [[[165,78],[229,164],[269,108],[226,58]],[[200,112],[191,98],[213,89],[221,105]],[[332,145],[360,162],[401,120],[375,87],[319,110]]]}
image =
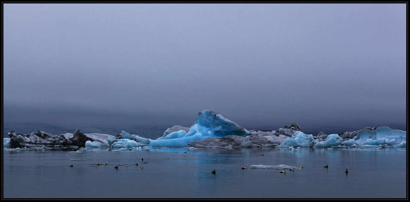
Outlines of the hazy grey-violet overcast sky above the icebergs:
{"label": "hazy grey-violet overcast sky above the icebergs", "polygon": [[[3,121],[407,130],[406,4],[3,4]],[[272,128],[275,129],[275,128]]]}

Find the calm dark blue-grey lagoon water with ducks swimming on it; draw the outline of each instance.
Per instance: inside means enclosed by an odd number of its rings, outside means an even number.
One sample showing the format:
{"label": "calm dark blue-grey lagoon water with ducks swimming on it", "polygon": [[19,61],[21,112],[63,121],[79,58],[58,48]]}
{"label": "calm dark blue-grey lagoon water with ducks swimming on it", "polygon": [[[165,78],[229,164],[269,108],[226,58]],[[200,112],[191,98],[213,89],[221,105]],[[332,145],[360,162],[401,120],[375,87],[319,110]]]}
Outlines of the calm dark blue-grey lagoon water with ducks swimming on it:
{"label": "calm dark blue-grey lagoon water with ducks swimming on it", "polygon": [[[406,154],[401,148],[4,149],[3,197],[407,198]],[[281,164],[303,168],[285,174],[250,168]]]}

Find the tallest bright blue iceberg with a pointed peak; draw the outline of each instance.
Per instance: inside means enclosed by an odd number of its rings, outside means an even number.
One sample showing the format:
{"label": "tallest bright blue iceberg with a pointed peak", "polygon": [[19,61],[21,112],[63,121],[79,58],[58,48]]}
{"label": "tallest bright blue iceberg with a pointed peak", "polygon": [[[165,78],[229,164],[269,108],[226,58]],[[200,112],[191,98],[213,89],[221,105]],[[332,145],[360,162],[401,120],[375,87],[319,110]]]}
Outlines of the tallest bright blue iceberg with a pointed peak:
{"label": "tallest bright blue iceberg with a pointed peak", "polygon": [[199,112],[195,123],[191,126],[188,133],[182,136],[184,132],[184,130],[179,130],[178,132],[166,135],[163,139],[150,139],[148,146],[189,146],[189,141],[198,141],[210,137],[225,137],[228,135],[247,136],[250,134],[248,130],[240,127],[237,123],[224,118],[219,113],[208,110]]}

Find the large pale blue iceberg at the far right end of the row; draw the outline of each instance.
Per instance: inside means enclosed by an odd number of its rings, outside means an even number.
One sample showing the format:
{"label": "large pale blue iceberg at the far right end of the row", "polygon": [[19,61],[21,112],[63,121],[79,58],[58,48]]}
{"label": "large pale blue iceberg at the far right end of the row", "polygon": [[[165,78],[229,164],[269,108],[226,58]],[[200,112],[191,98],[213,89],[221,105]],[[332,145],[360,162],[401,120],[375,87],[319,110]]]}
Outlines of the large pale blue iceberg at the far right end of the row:
{"label": "large pale blue iceberg at the far right end of the row", "polygon": [[353,138],[356,145],[397,145],[407,140],[407,132],[397,129],[391,129],[387,126],[379,126],[359,130]]}

